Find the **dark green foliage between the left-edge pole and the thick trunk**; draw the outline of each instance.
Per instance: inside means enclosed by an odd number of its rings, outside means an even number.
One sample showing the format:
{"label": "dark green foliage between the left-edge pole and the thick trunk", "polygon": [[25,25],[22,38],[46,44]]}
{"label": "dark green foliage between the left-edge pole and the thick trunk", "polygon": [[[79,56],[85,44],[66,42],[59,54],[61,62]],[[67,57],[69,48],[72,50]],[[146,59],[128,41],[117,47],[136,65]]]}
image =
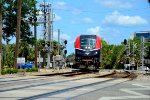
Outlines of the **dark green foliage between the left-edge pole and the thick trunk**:
{"label": "dark green foliage between the left-edge pole and the thick trunk", "polygon": [[16,28],[16,9],[15,0],[4,0],[4,10],[3,12],[3,39],[8,44],[11,40],[11,36],[15,36]]}

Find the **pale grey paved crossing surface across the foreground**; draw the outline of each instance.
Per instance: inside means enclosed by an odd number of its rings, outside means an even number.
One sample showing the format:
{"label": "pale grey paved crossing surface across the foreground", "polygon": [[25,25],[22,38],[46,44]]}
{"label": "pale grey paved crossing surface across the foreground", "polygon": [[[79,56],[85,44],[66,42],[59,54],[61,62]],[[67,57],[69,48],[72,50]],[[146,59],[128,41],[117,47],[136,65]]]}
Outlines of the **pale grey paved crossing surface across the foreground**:
{"label": "pale grey paved crossing surface across the foreground", "polygon": [[0,77],[0,100],[17,99],[150,100],[150,78]]}

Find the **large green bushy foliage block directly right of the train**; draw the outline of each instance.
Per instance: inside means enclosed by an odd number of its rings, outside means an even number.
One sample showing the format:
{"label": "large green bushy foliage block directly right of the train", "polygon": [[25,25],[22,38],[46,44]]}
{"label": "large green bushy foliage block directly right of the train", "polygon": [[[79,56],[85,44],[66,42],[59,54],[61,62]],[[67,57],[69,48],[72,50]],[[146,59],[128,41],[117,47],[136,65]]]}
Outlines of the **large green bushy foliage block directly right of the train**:
{"label": "large green bushy foliage block directly right of the train", "polygon": [[124,45],[110,45],[102,40],[101,68],[112,69],[123,66]]}

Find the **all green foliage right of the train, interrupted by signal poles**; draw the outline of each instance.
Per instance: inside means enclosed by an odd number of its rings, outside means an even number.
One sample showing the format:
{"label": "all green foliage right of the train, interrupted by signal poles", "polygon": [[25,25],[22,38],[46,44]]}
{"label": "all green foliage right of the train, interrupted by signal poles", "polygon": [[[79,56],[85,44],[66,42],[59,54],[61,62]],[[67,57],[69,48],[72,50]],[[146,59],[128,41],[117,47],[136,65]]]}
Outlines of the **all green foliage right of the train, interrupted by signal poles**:
{"label": "all green foliage right of the train, interrupted by signal poles", "polygon": [[[129,40],[128,40],[129,41]],[[134,61],[140,64],[141,39],[139,37],[130,40],[130,62],[133,61],[133,44],[135,45]],[[110,45],[104,40],[102,41],[102,62],[101,68],[123,69],[124,68],[124,50],[125,45]],[[150,43],[145,43],[145,58],[150,58]]]}

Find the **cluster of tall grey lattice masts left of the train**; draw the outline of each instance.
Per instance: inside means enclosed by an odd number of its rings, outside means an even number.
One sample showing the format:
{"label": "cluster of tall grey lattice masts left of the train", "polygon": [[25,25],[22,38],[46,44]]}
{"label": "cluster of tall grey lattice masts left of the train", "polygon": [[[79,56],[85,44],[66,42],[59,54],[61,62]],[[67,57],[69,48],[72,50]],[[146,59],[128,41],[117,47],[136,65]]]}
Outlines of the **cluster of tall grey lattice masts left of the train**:
{"label": "cluster of tall grey lattice masts left of the train", "polygon": [[47,67],[50,67],[51,64],[51,59],[50,59],[50,51],[51,51],[51,48],[52,48],[52,26],[53,26],[53,13],[52,13],[52,8],[51,8],[51,4],[50,3],[47,3],[44,2],[40,4],[40,7],[41,7],[41,12],[43,15],[43,21],[41,23],[44,23],[44,30],[43,30],[43,43],[42,43],[42,46],[43,46],[43,64],[42,64],[42,67],[44,68],[45,66],[45,54],[47,54]]}

